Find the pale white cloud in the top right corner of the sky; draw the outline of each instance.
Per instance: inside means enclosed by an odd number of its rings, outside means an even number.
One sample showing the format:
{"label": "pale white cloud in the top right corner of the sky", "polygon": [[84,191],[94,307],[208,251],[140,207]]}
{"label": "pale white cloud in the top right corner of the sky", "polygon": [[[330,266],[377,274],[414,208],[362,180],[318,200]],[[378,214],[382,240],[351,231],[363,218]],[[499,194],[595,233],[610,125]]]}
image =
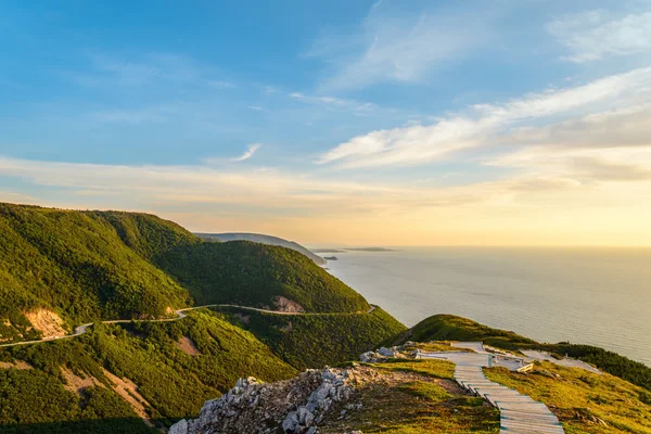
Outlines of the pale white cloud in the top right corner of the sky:
{"label": "pale white cloud in the top right corner of the sky", "polygon": [[553,21],[547,29],[570,50],[563,59],[571,62],[651,51],[651,12],[615,17],[605,11],[589,11]]}

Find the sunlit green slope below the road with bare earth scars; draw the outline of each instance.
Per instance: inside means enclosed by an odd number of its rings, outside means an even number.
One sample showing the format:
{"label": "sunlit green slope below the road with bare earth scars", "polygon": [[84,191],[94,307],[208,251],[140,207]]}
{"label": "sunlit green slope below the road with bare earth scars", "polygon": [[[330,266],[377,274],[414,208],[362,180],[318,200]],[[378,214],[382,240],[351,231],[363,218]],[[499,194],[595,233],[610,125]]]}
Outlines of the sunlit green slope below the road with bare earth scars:
{"label": "sunlit green slope below the road with bare earth scars", "polygon": [[[78,340],[1,350],[1,359],[24,360],[36,369],[0,369],[0,432],[11,432],[16,423],[22,424],[21,432],[37,432],[58,421],[66,422],[63,432],[77,432],[74,429],[84,421],[106,432],[119,424],[128,425],[124,432],[149,431],[141,420],[130,424],[136,414],[110,388],[91,387],[89,403],[80,406],[79,397],[63,388],[62,366],[105,385],[110,383],[102,367],[132,380],[152,406],[151,418],[164,424],[195,417],[206,399],[229,390],[240,376],[277,381],[296,374],[251,333],[215,314],[193,312],[180,321],[127,329],[130,332],[101,326]],[[178,349],[175,341],[182,335],[192,339],[202,354],[189,356]],[[89,406],[101,411],[91,414]],[[92,421],[93,414],[105,420]]]}

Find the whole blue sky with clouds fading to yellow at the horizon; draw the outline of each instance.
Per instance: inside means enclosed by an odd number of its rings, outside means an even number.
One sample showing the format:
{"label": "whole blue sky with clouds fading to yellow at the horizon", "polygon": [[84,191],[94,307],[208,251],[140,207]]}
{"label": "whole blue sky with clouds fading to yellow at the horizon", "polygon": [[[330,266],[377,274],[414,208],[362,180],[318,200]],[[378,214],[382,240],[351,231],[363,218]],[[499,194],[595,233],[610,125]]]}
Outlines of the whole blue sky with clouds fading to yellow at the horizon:
{"label": "whole blue sky with clouds fading to yellow at the horizon", "polygon": [[4,0],[0,202],[651,246],[651,1]]}

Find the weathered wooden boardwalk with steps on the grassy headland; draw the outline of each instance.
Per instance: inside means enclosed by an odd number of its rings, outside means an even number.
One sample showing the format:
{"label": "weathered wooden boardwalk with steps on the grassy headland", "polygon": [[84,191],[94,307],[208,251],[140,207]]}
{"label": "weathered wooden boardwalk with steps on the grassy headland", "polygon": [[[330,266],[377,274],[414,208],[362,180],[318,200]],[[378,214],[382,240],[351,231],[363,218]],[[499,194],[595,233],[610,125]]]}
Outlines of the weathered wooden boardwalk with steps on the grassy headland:
{"label": "weathered wooden boardwalk with steps on the grassy headland", "polygon": [[482,368],[493,365],[493,356],[484,350],[480,342],[458,342],[452,346],[472,349],[475,353],[419,353],[420,358],[445,358],[454,363],[455,380],[467,390],[478,394],[499,408],[500,433],[503,434],[562,434],[565,431],[547,406],[533,400],[518,391],[495,383],[484,375]]}

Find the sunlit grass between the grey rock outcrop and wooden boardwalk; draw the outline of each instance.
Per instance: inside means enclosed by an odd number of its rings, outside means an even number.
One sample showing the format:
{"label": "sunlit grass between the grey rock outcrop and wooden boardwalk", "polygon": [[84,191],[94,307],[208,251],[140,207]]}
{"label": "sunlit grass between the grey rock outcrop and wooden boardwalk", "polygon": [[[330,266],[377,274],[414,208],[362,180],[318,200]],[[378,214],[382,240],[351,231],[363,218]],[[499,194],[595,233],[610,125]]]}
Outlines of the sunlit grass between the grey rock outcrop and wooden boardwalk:
{"label": "sunlit grass between the grey rock outcrop and wooden boardwalk", "polygon": [[495,408],[481,398],[464,395],[454,381],[438,378],[447,375],[449,370],[446,362],[418,362],[414,363],[418,365],[417,368],[409,362],[395,361],[387,365],[391,365],[390,369],[373,366],[380,376],[372,383],[358,387],[353,400],[357,409],[343,414],[340,408],[334,409],[319,425],[319,432],[499,432],[499,417]]}

